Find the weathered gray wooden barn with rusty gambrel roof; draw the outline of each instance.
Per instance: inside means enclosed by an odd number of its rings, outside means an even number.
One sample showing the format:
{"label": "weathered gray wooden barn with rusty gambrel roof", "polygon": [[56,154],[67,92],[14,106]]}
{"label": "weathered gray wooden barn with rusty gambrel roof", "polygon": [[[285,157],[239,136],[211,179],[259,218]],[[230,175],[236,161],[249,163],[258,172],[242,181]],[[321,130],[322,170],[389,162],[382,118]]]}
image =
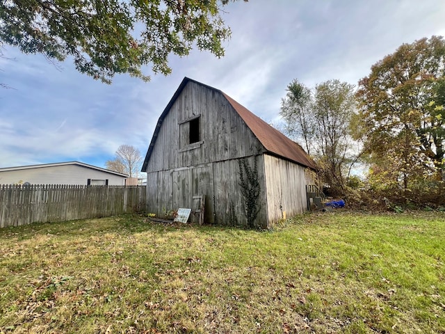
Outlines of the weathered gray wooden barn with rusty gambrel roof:
{"label": "weathered gray wooden barn with rusty gambrel roof", "polygon": [[245,166],[257,166],[254,225],[270,228],[307,209],[306,184],[315,166],[300,145],[221,90],[184,78],[158,120],[143,164],[148,211],[163,216],[193,209],[193,196],[204,195],[205,223],[248,225],[240,176]]}

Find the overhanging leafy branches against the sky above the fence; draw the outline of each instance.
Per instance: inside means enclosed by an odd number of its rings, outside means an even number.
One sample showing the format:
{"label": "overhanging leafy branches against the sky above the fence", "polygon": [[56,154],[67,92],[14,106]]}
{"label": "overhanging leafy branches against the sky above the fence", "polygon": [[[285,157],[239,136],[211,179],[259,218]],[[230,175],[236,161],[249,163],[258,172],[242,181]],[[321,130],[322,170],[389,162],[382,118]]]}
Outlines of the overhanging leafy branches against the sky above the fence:
{"label": "overhanging leafy branches against the sky above the fence", "polygon": [[230,30],[220,12],[229,1],[5,0],[0,44],[51,61],[70,57],[79,72],[106,83],[116,73],[147,81],[141,67],[170,74],[168,56],[186,56],[193,45],[223,56]]}

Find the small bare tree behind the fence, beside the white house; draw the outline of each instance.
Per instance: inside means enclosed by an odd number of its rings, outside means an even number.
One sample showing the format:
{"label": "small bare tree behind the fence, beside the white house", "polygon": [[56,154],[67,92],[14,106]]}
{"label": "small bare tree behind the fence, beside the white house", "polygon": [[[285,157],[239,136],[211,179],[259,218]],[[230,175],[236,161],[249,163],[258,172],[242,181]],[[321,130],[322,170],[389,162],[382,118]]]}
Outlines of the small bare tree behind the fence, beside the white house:
{"label": "small bare tree behind the fence, beside the white house", "polygon": [[131,145],[120,145],[116,151],[115,159],[106,161],[106,168],[124,173],[129,177],[137,177],[142,157],[137,148]]}

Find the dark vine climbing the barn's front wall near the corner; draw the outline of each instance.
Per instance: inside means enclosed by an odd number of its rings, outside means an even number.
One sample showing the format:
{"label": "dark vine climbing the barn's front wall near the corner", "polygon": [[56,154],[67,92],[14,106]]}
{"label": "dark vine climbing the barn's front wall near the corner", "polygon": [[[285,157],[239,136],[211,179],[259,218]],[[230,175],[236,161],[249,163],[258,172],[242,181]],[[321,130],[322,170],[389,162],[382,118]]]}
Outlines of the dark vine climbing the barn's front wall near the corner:
{"label": "dark vine climbing the barn's front wall near the corner", "polygon": [[248,227],[254,228],[257,218],[259,205],[260,184],[258,177],[257,159],[254,159],[253,168],[248,164],[246,158],[238,160],[239,166],[239,185],[241,194],[244,198],[245,218],[248,220]]}

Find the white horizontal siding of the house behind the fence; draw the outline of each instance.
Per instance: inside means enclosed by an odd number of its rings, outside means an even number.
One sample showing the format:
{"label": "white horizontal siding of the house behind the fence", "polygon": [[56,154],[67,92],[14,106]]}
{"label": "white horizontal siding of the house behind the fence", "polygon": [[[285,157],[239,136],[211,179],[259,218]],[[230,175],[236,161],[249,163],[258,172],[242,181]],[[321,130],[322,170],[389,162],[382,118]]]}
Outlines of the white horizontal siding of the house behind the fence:
{"label": "white horizontal siding of the house behind the fence", "polygon": [[42,166],[0,171],[0,184],[87,184],[91,180],[108,180],[108,185],[124,184],[125,177],[79,165]]}

